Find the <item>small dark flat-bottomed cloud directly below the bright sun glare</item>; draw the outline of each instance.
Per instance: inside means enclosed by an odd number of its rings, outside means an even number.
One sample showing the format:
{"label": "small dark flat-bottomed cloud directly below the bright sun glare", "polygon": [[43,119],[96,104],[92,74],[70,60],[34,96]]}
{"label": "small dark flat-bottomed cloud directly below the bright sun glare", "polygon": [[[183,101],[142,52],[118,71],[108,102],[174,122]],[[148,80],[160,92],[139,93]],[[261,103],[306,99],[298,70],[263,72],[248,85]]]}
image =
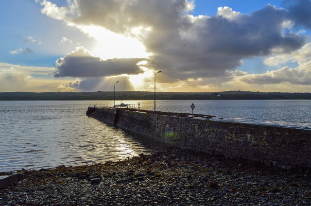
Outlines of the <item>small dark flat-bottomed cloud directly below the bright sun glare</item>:
{"label": "small dark flat-bottomed cloud directly below the bright sun glare", "polygon": [[58,71],[54,77],[103,77],[120,74],[138,74],[141,71],[137,63],[139,58],[102,60],[94,57],[83,47],[56,61]]}

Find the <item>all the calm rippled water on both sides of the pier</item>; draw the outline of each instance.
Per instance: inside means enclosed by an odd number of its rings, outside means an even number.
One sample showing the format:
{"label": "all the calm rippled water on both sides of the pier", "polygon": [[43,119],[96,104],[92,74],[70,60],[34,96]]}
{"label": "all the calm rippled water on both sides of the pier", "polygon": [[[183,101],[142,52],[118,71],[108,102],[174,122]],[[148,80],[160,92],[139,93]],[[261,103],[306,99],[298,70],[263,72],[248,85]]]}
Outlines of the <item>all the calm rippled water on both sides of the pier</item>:
{"label": "all the calm rippled water on both sides of the pier", "polygon": [[[124,101],[153,110],[153,101]],[[113,101],[0,101],[0,172],[81,165],[152,153],[163,145],[88,118],[88,104]],[[116,103],[121,103],[116,101]],[[309,100],[157,101],[159,111],[215,120],[311,129]]]}

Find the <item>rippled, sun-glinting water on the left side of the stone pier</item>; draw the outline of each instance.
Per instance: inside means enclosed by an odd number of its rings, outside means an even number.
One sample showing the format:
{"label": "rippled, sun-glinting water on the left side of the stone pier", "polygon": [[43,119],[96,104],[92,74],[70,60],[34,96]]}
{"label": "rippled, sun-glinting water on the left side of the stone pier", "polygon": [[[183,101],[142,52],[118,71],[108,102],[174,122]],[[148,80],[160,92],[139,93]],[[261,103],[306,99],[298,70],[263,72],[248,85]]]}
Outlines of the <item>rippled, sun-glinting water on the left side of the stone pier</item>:
{"label": "rippled, sun-glinting water on the left side of the stone pier", "polygon": [[124,159],[159,145],[88,118],[88,102],[13,102],[16,110],[10,113],[3,103],[0,172]]}

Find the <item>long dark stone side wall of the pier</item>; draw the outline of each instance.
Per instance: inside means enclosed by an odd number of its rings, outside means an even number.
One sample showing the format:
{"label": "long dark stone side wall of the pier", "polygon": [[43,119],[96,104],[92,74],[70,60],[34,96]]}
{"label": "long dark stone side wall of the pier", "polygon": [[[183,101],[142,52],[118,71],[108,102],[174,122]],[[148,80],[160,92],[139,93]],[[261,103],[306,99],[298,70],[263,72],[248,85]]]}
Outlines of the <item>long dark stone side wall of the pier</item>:
{"label": "long dark stone side wall of the pier", "polygon": [[284,169],[311,167],[310,130],[113,108],[97,109],[88,115],[184,149],[259,161]]}

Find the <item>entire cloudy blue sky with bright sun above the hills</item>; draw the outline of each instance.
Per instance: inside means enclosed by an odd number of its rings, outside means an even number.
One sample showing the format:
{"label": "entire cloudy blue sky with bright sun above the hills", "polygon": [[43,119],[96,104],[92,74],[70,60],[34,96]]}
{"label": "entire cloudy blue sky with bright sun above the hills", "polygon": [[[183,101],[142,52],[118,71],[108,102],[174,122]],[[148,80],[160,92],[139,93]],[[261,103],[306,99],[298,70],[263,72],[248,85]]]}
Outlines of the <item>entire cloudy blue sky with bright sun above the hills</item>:
{"label": "entire cloudy blue sky with bright sun above the hills", "polygon": [[311,92],[311,0],[0,4],[0,92]]}

